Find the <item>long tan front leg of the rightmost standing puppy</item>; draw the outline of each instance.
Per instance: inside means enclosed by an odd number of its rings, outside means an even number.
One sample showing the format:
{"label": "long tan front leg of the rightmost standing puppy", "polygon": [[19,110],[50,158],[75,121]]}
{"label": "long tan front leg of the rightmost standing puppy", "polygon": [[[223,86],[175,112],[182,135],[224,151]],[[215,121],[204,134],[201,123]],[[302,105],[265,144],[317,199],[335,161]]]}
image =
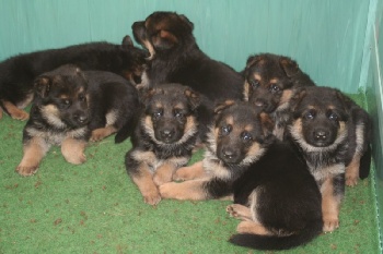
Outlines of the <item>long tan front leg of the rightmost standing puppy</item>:
{"label": "long tan front leg of the rightmost standing puppy", "polygon": [[332,232],[339,228],[339,206],[340,201],[334,196],[333,179],[327,178],[322,186],[322,214],[323,214],[323,231]]}

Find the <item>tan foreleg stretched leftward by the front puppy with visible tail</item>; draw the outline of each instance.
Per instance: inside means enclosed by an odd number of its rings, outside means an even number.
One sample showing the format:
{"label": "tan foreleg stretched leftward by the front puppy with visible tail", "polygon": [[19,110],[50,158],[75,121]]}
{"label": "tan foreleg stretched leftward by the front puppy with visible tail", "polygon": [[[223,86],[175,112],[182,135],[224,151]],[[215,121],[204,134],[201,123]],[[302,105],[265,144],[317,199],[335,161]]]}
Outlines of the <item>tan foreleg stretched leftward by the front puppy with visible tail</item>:
{"label": "tan foreleg stretched leftward by the front puppy with visible tail", "polygon": [[205,201],[208,199],[204,190],[207,180],[190,180],[182,183],[169,182],[160,186],[161,196],[181,201]]}

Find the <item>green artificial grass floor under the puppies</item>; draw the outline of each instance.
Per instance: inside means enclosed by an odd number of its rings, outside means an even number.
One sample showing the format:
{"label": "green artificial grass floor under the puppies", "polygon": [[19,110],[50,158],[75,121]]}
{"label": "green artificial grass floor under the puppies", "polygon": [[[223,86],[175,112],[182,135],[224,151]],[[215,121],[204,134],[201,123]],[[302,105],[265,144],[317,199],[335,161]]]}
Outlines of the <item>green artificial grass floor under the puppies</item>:
{"label": "green artificial grass floor under the puppies", "polygon": [[[81,166],[54,147],[19,176],[24,124],[0,120],[0,253],[257,253],[227,242],[239,223],[228,201],[144,204],[124,166],[129,141],[90,144]],[[373,174],[346,189],[339,229],[281,253],[380,253]]]}

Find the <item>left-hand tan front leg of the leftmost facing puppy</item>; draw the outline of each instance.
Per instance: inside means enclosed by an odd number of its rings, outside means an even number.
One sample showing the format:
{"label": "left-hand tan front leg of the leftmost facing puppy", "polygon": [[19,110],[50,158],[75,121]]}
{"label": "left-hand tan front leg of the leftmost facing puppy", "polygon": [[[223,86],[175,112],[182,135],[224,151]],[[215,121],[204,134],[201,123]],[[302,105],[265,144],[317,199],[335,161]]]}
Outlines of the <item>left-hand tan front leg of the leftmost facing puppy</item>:
{"label": "left-hand tan front leg of the leftmost facing puppy", "polygon": [[48,149],[49,145],[43,138],[33,137],[23,147],[24,155],[16,171],[24,177],[34,174]]}

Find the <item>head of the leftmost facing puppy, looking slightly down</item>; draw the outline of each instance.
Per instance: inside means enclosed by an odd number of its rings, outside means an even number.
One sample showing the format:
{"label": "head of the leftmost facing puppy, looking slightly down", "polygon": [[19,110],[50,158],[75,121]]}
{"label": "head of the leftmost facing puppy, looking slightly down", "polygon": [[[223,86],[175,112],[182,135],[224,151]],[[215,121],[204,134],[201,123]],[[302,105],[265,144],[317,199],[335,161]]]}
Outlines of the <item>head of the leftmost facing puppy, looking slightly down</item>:
{"label": "head of the leftmost facing puppy, looking slightly down", "polygon": [[42,74],[34,84],[42,117],[56,128],[79,128],[89,122],[88,82],[80,69],[63,65]]}

